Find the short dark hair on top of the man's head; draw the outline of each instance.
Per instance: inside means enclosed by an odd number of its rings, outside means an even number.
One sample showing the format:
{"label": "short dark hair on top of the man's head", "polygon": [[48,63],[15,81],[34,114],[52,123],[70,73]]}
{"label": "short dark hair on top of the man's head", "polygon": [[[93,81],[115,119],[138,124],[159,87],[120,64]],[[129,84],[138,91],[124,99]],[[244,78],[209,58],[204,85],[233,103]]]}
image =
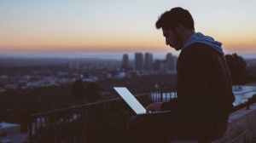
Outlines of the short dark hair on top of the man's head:
{"label": "short dark hair on top of the man's head", "polygon": [[195,30],[194,20],[188,10],[182,8],[173,8],[161,14],[155,22],[157,29],[174,29],[176,24],[180,22],[186,29]]}

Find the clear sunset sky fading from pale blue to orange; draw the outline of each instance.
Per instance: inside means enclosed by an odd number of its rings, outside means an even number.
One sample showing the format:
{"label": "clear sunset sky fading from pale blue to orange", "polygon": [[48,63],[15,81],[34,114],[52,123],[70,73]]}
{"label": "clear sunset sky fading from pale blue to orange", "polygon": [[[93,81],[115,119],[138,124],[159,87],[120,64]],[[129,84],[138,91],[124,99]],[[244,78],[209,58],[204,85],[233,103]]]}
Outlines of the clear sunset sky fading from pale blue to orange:
{"label": "clear sunset sky fading from pale blue to orange", "polygon": [[255,0],[1,0],[0,56],[179,54],[154,27],[174,7],[226,54],[256,54]]}

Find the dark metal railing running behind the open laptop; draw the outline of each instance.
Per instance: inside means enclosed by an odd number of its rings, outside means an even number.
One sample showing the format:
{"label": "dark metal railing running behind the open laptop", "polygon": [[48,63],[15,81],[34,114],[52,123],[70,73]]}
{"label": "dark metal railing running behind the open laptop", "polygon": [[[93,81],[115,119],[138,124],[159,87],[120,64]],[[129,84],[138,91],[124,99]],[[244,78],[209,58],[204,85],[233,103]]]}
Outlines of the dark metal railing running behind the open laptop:
{"label": "dark metal railing running behind the open laptop", "polygon": [[[144,106],[176,98],[175,92],[135,95]],[[34,114],[29,123],[31,143],[131,142],[126,124],[136,113],[122,98]]]}

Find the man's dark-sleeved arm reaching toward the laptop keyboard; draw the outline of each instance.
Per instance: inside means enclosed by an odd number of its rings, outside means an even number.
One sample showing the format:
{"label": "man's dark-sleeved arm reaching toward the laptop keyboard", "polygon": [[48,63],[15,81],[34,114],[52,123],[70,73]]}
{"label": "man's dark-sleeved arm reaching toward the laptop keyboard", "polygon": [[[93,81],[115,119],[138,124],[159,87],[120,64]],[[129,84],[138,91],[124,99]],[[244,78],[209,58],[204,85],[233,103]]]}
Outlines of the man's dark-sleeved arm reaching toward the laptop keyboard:
{"label": "man's dark-sleeved arm reaching toward the laptop keyboard", "polygon": [[177,99],[163,102],[162,111],[193,110],[207,104],[207,92],[210,79],[210,64],[207,60],[196,60],[189,67],[183,69],[182,94]]}

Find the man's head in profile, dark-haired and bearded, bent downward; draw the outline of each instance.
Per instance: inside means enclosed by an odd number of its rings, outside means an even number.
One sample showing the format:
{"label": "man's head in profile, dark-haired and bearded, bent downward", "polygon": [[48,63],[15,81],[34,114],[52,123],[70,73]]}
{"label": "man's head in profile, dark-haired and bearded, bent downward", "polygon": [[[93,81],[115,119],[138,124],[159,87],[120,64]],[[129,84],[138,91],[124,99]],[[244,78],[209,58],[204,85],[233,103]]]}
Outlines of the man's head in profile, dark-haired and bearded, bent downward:
{"label": "man's head in profile, dark-haired and bearded, bent downward", "polygon": [[191,14],[182,8],[173,8],[161,14],[155,26],[157,29],[162,28],[163,35],[166,37],[166,45],[176,50],[182,49],[189,37],[195,33]]}

